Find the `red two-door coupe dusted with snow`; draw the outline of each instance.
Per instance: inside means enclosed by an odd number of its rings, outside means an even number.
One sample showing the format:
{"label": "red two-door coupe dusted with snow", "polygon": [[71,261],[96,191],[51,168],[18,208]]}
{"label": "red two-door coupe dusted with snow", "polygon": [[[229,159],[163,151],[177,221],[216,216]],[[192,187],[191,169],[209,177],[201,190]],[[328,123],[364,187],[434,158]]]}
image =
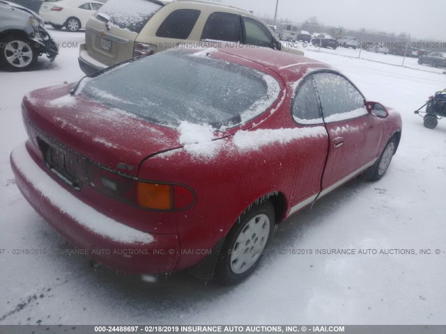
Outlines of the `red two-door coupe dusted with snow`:
{"label": "red two-door coupe dusted with snow", "polygon": [[239,45],[171,49],[24,97],[26,200],[119,271],[236,283],[276,223],[383,176],[401,117],[329,65]]}

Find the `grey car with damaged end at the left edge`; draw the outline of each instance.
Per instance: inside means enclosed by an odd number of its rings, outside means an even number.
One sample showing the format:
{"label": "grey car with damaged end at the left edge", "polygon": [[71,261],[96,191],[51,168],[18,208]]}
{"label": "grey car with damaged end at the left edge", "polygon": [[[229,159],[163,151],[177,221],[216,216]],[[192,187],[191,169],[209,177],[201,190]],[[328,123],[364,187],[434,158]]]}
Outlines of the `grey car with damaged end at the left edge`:
{"label": "grey car with damaged end at the left edge", "polygon": [[43,54],[56,58],[59,49],[35,15],[0,1],[0,66],[6,70],[29,70]]}

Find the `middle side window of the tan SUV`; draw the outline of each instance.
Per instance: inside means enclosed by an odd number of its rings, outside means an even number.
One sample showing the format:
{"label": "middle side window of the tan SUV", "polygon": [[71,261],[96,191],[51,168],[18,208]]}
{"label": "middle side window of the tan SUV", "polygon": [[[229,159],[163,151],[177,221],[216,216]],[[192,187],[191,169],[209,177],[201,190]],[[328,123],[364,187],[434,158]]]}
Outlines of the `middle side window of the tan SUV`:
{"label": "middle side window of the tan SUV", "polygon": [[201,35],[202,40],[240,42],[240,17],[229,13],[212,13]]}

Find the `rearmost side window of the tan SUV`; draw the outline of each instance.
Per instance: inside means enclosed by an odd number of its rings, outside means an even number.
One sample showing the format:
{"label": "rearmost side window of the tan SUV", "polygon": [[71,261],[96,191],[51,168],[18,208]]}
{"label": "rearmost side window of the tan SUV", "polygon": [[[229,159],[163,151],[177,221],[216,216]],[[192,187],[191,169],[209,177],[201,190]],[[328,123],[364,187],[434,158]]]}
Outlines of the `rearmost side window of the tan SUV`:
{"label": "rearmost side window of the tan SUV", "polygon": [[194,29],[200,13],[200,10],[195,9],[174,10],[158,28],[156,32],[157,37],[185,40],[189,37],[192,29]]}

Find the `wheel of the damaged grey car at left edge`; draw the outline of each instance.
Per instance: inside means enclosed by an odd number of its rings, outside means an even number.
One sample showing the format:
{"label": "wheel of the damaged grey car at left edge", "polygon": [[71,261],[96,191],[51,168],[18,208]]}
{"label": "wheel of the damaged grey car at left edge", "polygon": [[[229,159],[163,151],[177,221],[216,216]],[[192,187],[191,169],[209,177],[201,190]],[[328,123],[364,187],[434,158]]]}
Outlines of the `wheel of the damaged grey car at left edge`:
{"label": "wheel of the damaged grey car at left edge", "polygon": [[38,51],[27,38],[6,35],[0,38],[0,65],[11,72],[26,71],[36,65]]}

